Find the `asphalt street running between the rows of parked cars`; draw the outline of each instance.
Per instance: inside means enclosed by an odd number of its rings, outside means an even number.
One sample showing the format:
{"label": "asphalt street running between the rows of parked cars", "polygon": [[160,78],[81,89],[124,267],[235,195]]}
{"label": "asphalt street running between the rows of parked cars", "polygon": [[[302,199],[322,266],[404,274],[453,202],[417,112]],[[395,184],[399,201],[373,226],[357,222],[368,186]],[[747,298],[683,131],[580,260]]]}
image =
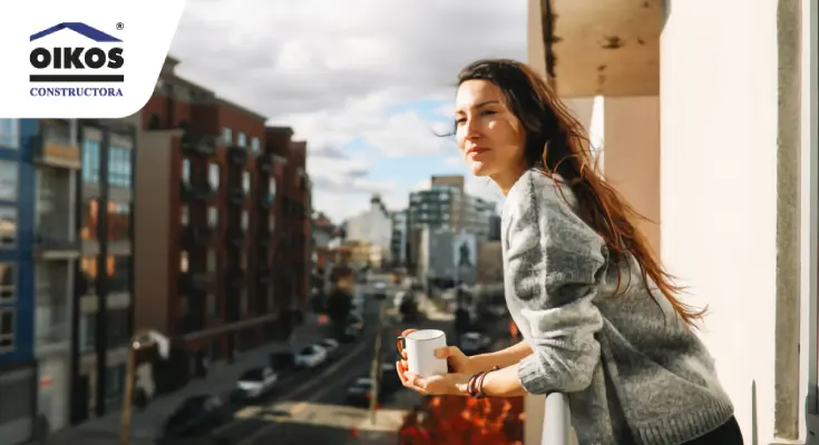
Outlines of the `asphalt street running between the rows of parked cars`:
{"label": "asphalt street running between the rows of parked cars", "polygon": [[[384,305],[391,306],[388,298]],[[342,347],[337,358],[323,367],[300,372],[283,380],[277,393],[269,400],[248,405],[235,413],[235,421],[218,428],[212,437],[225,444],[344,444],[351,429],[368,419],[368,412],[344,405],[347,388],[358,377],[370,374],[374,354],[379,301],[365,298],[363,315],[365,328],[361,339]],[[404,326],[389,320],[383,327],[384,360],[394,362],[392,339]],[[431,325],[430,325],[431,324]],[[422,322],[422,327],[448,328],[449,323]],[[381,404],[379,415],[399,416],[392,408],[407,409],[419,397],[403,388],[392,393]]]}

